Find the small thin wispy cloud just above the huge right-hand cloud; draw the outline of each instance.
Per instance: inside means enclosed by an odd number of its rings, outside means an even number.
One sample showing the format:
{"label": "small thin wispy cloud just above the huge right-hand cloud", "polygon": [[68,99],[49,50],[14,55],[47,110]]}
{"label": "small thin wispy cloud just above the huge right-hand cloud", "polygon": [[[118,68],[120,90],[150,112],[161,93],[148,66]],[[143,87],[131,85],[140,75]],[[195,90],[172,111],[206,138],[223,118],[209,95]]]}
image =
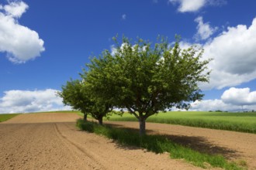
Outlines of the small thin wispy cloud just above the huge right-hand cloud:
{"label": "small thin wispy cloud just above the huge right-hand cloud", "polygon": [[210,36],[213,35],[214,32],[216,32],[217,28],[212,28],[209,26],[209,23],[204,23],[202,20],[202,16],[199,16],[198,18],[195,19],[195,22],[198,23],[197,26],[197,32],[195,34],[195,39],[197,40],[205,40],[208,39]]}

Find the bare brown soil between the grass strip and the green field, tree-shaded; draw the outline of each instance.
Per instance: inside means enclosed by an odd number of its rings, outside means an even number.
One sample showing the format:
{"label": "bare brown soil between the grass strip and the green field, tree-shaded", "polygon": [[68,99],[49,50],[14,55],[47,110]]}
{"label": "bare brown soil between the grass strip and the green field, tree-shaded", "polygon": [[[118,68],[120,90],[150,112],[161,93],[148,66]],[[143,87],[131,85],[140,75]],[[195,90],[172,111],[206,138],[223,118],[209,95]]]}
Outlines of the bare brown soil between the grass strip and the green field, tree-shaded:
{"label": "bare brown soil between the grass strip and the green field, tree-shaded", "polygon": [[[137,122],[106,122],[118,128],[138,128]],[[162,134],[181,145],[200,152],[223,155],[238,165],[256,169],[256,134],[193,128],[171,124],[146,124],[147,134]]]}

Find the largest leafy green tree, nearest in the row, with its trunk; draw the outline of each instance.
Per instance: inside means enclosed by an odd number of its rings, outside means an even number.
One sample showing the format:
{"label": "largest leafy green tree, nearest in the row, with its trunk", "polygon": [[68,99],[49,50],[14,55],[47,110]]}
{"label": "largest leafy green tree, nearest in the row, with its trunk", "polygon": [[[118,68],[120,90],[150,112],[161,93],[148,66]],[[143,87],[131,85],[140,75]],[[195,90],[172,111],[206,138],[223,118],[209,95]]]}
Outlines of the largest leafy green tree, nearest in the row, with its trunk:
{"label": "largest leafy green tree, nearest in the row, with its trunk", "polygon": [[209,80],[202,49],[181,49],[178,39],[174,46],[167,39],[153,46],[123,38],[113,52],[92,58],[81,76],[95,97],[137,117],[140,134],[145,134],[147,117],[171,107],[189,109],[191,101],[202,99],[198,83]]}

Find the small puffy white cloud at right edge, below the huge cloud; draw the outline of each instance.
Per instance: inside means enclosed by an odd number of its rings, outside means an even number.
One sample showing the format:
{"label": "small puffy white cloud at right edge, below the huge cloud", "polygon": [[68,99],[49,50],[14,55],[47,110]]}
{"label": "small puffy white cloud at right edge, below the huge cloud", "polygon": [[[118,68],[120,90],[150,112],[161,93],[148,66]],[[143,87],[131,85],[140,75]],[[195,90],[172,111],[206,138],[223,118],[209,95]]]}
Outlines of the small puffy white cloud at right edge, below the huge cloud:
{"label": "small puffy white cloud at right edge, below the huge cloud", "polygon": [[249,88],[230,88],[226,90],[221,96],[226,104],[234,105],[256,105],[256,91],[250,92]]}

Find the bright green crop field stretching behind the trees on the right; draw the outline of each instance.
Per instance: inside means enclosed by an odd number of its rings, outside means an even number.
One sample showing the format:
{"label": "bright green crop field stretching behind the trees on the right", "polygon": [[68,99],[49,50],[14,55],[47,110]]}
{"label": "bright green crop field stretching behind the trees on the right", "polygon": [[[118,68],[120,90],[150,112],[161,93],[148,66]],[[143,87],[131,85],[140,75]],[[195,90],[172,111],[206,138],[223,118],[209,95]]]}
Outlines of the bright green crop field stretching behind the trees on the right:
{"label": "bright green crop field stretching behind the trees on the right", "polygon": [[[137,121],[131,114],[112,115],[109,121]],[[256,112],[227,113],[203,111],[170,111],[147,118],[147,122],[241,131],[256,134]]]}

